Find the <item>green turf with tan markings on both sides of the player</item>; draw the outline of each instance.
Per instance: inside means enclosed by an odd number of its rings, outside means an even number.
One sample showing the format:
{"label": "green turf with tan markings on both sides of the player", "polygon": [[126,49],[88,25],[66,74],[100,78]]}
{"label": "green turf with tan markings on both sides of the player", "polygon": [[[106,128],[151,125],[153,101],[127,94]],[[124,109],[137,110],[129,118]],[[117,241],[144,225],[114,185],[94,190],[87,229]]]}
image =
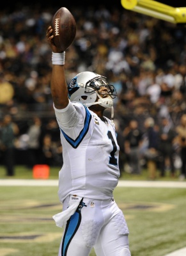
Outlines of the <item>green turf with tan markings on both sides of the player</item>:
{"label": "green turf with tan markings on both sides of the player", "polygon": [[[26,172],[20,177],[31,179]],[[57,186],[0,186],[1,256],[58,255],[63,229],[52,219],[61,211],[57,193]],[[128,223],[132,256],[164,256],[186,246],[186,189],[118,187],[114,198]]]}

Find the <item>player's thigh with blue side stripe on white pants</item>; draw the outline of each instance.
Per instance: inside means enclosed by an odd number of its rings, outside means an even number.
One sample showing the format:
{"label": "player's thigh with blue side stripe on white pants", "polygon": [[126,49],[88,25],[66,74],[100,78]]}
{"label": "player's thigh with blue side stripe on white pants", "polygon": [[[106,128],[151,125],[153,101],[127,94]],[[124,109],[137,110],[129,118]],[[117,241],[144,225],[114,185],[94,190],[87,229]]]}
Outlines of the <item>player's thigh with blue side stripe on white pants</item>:
{"label": "player's thigh with blue side stripe on white pants", "polygon": [[[89,200],[83,200],[83,203],[85,206],[78,214],[75,212],[66,225],[59,248],[59,256],[89,255],[91,248],[98,239],[104,223],[102,211],[100,211],[99,205],[91,204]],[[77,226],[75,227],[75,225]]]}

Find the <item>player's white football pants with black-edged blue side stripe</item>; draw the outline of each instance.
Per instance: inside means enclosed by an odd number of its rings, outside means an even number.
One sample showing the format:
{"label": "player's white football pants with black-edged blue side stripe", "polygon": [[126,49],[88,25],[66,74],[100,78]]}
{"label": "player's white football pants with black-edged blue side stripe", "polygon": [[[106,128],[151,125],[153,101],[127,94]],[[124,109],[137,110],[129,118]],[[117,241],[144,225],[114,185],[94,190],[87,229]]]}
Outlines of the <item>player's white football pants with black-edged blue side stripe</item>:
{"label": "player's white football pants with black-edged blue side stripe", "polygon": [[[63,211],[69,200],[65,200]],[[82,198],[66,223],[58,256],[88,256],[91,248],[97,256],[131,256],[128,233],[123,212],[113,199]]]}

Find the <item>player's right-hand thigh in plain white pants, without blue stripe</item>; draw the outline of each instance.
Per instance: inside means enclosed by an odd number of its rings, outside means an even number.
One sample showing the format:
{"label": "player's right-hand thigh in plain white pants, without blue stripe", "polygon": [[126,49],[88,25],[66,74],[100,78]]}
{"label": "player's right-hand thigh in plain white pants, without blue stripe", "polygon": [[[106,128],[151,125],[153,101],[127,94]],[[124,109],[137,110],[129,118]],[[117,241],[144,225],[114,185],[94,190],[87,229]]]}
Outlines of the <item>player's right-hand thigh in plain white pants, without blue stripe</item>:
{"label": "player's right-hand thigh in plain white pants, without blue stripe", "polygon": [[130,256],[128,227],[123,212],[116,214],[102,228],[94,248],[97,256]]}

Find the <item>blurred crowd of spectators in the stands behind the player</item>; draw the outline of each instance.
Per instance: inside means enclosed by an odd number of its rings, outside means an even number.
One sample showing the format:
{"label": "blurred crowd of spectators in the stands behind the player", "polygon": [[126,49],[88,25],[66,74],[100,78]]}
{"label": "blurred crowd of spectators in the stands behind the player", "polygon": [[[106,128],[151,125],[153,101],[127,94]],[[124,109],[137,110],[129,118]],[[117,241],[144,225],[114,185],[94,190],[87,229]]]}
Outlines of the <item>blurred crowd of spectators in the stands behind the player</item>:
{"label": "blurred crowd of spectators in the stands behind the player", "polygon": [[[61,166],[63,162],[50,96],[51,51],[45,38],[59,7],[38,3],[11,12],[0,10],[0,164],[32,168],[36,163]],[[121,6],[68,9],[75,17],[77,34],[66,50],[67,83],[89,70],[106,76],[116,87],[114,121],[121,172],[140,174],[145,165],[150,179],[155,179],[157,169],[162,177],[168,169],[174,177],[179,168],[180,178],[185,179],[185,26]],[[8,147],[15,148],[14,162],[6,161],[5,156],[13,155],[6,152]]]}

